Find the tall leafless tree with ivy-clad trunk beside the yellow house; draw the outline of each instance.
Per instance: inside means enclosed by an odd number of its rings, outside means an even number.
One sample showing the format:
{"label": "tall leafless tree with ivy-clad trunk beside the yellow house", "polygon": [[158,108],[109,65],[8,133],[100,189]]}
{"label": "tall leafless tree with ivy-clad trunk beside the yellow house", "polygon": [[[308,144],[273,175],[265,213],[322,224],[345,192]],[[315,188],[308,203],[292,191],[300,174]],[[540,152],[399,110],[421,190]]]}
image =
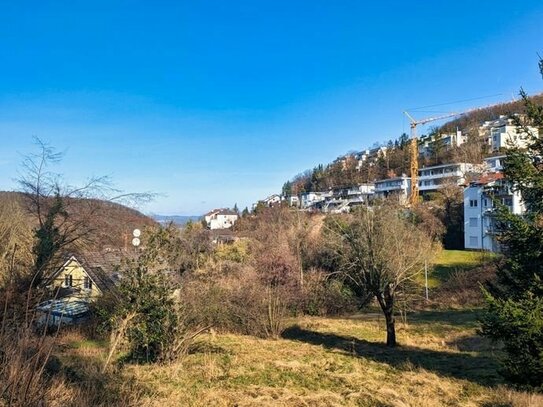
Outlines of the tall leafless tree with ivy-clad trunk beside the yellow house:
{"label": "tall leafless tree with ivy-clad trunk beside the yellow house", "polygon": [[91,177],[82,185],[64,182],[52,167],[62,154],[47,143],[35,139],[38,152],[24,157],[20,190],[29,213],[35,218],[34,278],[40,282],[43,272],[67,248],[84,245],[93,232],[93,218],[99,216],[99,201],[124,204],[151,200],[151,193],[123,193],[108,177]]}

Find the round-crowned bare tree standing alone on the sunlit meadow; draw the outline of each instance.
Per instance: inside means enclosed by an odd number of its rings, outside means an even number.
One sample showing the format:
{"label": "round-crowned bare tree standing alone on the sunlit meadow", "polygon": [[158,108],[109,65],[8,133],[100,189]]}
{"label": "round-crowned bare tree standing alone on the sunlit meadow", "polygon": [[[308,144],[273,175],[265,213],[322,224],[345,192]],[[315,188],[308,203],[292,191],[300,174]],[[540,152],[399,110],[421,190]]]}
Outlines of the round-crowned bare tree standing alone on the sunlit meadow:
{"label": "round-crowned bare tree standing alone on the sunlit meadow", "polygon": [[361,208],[328,222],[340,273],[358,295],[373,296],[386,320],[387,345],[396,345],[394,311],[400,292],[421,272],[433,241],[390,203]]}

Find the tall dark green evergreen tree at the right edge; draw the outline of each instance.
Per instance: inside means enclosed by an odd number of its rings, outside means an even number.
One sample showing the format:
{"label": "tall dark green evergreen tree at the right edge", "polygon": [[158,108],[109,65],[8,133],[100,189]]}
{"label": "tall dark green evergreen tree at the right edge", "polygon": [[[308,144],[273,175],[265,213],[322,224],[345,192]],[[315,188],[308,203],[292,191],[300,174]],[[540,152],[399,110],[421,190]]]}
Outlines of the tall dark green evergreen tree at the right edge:
{"label": "tall dark green evergreen tree at the right edge", "polygon": [[[543,61],[540,61],[543,75]],[[543,138],[527,131],[529,124],[543,134],[543,106],[521,91],[527,120],[518,127],[528,151],[512,149],[505,161],[506,178],[522,195],[526,214],[498,211],[499,241],[505,260],[497,281],[485,290],[487,309],[482,333],[504,344],[503,374],[511,382],[543,390]]]}

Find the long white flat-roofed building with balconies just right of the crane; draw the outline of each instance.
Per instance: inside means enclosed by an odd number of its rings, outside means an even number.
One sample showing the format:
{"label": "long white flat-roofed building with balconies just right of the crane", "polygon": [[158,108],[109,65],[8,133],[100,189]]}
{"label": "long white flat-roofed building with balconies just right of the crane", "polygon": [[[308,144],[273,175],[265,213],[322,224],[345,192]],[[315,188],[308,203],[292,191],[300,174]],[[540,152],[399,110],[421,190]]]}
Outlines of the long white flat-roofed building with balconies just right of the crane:
{"label": "long white flat-roofed building with balconies just right of the crane", "polygon": [[419,170],[419,191],[434,192],[448,182],[461,185],[466,181],[466,174],[473,171],[470,163],[453,163],[424,167]]}

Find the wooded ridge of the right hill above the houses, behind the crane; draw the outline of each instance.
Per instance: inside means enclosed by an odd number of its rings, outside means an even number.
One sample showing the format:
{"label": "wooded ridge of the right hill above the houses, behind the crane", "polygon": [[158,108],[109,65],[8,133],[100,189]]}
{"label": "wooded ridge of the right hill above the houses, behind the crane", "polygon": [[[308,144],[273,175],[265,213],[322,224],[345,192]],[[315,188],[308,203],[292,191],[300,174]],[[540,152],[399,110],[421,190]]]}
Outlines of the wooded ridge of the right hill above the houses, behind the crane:
{"label": "wooded ridge of the right hill above the houses, behind the crane", "polygon": [[[543,103],[543,94],[530,98],[535,103]],[[499,118],[500,115],[524,113],[524,109],[522,100],[497,104],[462,115],[439,127],[430,128],[429,133],[432,135],[454,133],[459,129],[467,135],[467,142],[456,149],[448,151],[442,149],[431,157],[421,157],[420,165],[438,165],[454,161],[480,162],[488,155],[488,146],[479,137],[479,126],[485,121]],[[357,153],[348,153],[330,164],[320,164],[296,175],[283,185],[282,193],[298,195],[303,192],[327,191],[330,188],[348,187],[408,174],[409,136],[404,133],[397,139],[380,145],[387,148],[386,154],[378,153],[372,159],[360,163]]]}

